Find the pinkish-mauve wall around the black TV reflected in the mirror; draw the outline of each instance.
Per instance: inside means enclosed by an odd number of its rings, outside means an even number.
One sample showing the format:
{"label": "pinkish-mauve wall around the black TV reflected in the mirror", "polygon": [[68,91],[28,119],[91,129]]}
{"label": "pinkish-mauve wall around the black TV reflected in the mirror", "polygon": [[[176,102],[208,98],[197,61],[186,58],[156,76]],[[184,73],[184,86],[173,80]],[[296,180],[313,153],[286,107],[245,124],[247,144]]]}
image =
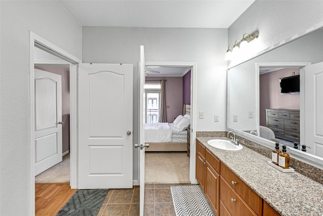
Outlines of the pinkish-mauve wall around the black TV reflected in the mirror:
{"label": "pinkish-mauve wall around the black TV reflected in the mirror", "polygon": [[281,95],[279,78],[299,74],[299,68],[285,68],[259,76],[260,125],[266,126],[266,109],[299,109],[299,94]]}

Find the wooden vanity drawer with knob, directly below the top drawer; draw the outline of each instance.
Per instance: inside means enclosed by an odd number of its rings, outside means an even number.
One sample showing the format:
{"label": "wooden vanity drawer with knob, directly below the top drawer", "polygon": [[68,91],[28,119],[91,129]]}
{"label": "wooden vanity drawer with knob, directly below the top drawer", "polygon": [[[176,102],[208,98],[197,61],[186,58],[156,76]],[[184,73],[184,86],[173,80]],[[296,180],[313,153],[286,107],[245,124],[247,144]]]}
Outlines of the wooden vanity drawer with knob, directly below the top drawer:
{"label": "wooden vanity drawer with knob, directly below the top drawer", "polygon": [[[232,215],[257,215],[253,210],[245,203],[241,197],[229,186],[229,184],[220,178],[220,199],[224,206],[228,209]],[[221,212],[221,210],[220,210]],[[260,212],[259,212],[260,213]],[[259,214],[260,215],[260,214]]]}

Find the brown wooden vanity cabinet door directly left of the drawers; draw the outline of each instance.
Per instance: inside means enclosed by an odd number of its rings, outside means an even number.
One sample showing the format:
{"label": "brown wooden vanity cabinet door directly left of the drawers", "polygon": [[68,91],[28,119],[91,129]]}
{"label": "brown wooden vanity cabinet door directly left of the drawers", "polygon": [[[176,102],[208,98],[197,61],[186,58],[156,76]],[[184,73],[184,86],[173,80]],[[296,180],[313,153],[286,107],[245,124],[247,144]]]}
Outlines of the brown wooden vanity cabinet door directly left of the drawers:
{"label": "brown wooden vanity cabinet door directly left of the drawers", "polygon": [[220,175],[206,161],[205,163],[205,195],[213,207],[214,213],[219,214]]}

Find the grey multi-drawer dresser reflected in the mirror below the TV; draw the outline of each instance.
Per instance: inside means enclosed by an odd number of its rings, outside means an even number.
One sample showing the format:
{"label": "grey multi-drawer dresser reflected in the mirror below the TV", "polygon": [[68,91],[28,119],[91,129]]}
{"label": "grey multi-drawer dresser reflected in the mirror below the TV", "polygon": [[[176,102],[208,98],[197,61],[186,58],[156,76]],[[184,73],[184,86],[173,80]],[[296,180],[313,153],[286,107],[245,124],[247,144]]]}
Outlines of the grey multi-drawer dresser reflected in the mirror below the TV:
{"label": "grey multi-drawer dresser reflected in the mirror below the TV", "polygon": [[299,142],[299,116],[299,110],[266,109],[266,124],[276,137]]}

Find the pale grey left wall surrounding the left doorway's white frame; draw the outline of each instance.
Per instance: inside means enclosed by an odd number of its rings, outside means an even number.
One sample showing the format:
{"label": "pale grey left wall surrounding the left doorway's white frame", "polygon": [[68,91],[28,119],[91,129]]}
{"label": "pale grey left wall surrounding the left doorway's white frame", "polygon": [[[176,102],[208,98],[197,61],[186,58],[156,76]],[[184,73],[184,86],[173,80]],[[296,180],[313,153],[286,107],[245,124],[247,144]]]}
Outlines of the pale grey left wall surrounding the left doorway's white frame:
{"label": "pale grey left wall surrounding the left doorway's white frame", "polygon": [[57,1],[1,1],[0,215],[28,215],[29,33],[81,59],[82,27]]}

